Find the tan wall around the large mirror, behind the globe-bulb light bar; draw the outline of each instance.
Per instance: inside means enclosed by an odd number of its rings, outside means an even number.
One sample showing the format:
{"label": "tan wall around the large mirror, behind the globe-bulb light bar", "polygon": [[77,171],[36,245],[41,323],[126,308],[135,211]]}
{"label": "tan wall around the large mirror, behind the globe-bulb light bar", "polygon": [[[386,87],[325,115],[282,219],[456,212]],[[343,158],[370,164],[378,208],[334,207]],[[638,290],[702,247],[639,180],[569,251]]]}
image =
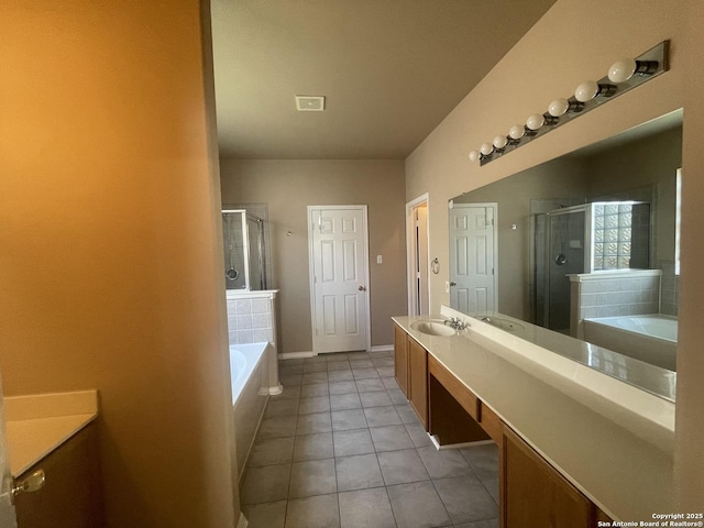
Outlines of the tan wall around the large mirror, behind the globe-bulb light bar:
{"label": "tan wall around the large mirror, behind the globe-bulb light bar", "polygon": [[[686,6],[690,13],[684,9]],[[704,420],[701,418],[704,356],[701,344],[697,344],[697,339],[701,343],[701,332],[694,322],[695,318],[701,318],[701,307],[704,306],[704,286],[697,277],[704,249],[695,242],[704,223],[701,207],[704,183],[696,177],[704,170],[701,147],[704,139],[704,103],[701,101],[704,74],[694,59],[701,57],[704,48],[701,32],[703,9],[701,2],[694,0],[597,0],[590,2],[586,9],[576,0],[558,0],[406,161],[406,197],[410,199],[429,191],[431,208],[443,211],[447,200],[462,191],[684,107],[683,172],[689,187],[683,207],[685,249],[680,283],[683,296],[678,356],[678,364],[683,367],[678,374],[675,457],[680,510],[686,510],[686,507],[701,509],[701,497],[704,496],[704,459],[695,448],[698,443],[701,449],[704,443]],[[685,28],[690,29],[689,36]],[[671,70],[666,75],[485,167],[471,164],[466,158],[469,151],[491,141],[497,133],[505,133],[515,122],[525,122],[531,112],[547,108],[551,99],[570,95],[582,80],[601,78],[619,57],[636,56],[667,38],[672,41],[672,51]],[[688,174],[691,175],[689,184]],[[449,302],[443,289],[443,283],[448,280],[447,266],[442,265],[448,262],[447,215],[431,218],[430,231],[430,252],[440,256],[443,270],[432,277],[432,310],[441,302]]]}

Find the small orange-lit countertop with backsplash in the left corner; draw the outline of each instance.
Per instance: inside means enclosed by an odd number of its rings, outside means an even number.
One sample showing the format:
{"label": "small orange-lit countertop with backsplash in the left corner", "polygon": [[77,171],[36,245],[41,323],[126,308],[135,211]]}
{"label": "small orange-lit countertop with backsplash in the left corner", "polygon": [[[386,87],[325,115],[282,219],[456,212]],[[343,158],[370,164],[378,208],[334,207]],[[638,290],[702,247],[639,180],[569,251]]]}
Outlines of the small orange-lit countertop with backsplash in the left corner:
{"label": "small orange-lit countertop with backsplash in the left corner", "polygon": [[98,416],[98,392],[4,398],[10,471],[16,477]]}

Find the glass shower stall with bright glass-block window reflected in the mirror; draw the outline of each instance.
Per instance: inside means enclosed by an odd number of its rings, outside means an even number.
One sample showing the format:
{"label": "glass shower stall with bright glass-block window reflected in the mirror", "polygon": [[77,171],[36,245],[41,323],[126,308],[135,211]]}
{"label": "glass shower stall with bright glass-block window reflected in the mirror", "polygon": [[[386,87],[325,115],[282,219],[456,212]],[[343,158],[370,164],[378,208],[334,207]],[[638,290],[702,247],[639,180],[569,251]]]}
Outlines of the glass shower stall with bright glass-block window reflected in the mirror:
{"label": "glass shower stall with bright glass-block window reflected in the mirror", "polygon": [[598,201],[535,217],[536,323],[570,331],[570,275],[647,270],[650,204]]}

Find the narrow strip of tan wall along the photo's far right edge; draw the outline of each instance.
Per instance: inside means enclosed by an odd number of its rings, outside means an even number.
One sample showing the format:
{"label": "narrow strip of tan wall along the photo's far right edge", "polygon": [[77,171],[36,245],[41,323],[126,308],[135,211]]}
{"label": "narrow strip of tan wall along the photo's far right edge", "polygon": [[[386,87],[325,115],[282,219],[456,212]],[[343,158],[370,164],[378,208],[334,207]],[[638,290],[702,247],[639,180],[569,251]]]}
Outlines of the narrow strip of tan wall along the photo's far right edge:
{"label": "narrow strip of tan wall along the photo's far right edge", "polygon": [[682,275],[680,277],[680,333],[678,346],[678,407],[675,496],[678,512],[701,512],[704,497],[704,354],[702,354],[702,228],[704,227],[704,72],[698,66],[704,50],[704,6],[688,0],[684,10],[688,61],[684,90],[682,148]]}

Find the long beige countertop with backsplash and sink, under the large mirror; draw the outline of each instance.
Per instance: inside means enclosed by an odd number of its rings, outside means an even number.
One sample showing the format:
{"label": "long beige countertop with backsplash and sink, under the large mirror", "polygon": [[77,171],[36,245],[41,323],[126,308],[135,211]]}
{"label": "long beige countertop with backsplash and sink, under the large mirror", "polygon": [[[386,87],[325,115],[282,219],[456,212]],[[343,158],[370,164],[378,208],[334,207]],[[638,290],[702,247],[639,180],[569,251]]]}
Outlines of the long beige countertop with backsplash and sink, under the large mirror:
{"label": "long beige countertop with backsplash and sink, under the large mirror", "polygon": [[410,326],[428,317],[393,319],[607,515],[651,520],[673,510],[674,404],[446,307],[443,315],[471,328],[436,337]]}

